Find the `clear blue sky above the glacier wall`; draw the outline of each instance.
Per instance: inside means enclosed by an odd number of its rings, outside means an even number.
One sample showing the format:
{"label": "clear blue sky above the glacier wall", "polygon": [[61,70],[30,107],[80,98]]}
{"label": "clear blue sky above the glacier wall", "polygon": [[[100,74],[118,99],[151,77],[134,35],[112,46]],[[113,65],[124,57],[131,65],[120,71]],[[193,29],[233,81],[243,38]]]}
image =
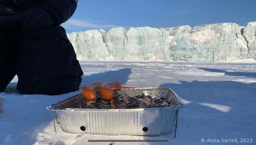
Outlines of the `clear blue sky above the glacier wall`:
{"label": "clear blue sky above the glacier wall", "polygon": [[122,26],[168,28],[179,25],[256,21],[256,0],[78,0],[62,24],[67,33]]}

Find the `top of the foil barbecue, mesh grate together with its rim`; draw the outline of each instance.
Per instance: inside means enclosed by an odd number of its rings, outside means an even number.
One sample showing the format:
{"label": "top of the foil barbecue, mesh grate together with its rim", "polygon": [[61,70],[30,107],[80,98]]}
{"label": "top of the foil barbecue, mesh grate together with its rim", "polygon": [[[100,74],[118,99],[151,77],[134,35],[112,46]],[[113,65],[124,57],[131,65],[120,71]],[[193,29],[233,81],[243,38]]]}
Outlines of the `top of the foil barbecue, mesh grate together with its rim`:
{"label": "top of the foil barbecue, mesh grate together with its rim", "polygon": [[115,90],[114,102],[116,102],[117,105],[110,105],[110,101],[102,99],[99,96],[98,91],[96,91],[96,94],[97,99],[95,101],[87,101],[81,96],[81,94],[77,94],[53,105],[49,105],[47,109],[51,111],[142,111],[154,109],[174,109],[185,106],[184,102],[174,91],[172,91],[172,89],[165,87]]}

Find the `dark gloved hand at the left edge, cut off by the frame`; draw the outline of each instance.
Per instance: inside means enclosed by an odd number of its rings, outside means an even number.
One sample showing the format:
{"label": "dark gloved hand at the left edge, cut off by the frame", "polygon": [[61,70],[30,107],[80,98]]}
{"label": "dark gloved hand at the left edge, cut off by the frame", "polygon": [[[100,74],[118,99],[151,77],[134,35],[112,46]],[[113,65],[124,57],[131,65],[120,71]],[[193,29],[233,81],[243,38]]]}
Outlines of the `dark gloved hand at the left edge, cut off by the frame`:
{"label": "dark gloved hand at the left edge, cut off by the frame", "polygon": [[0,16],[0,29],[10,29],[20,25],[23,15]]}

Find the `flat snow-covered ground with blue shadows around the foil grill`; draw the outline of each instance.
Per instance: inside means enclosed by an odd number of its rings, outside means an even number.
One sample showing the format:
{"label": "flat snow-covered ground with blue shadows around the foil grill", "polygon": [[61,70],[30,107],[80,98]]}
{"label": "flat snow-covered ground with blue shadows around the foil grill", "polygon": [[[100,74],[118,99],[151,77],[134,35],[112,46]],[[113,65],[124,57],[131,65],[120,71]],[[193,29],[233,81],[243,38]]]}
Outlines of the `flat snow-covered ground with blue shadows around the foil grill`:
{"label": "flat snow-covered ground with blue shadows around the foil grill", "polygon": [[[157,32],[157,31],[156,31]],[[180,31],[177,31],[180,32]],[[121,32],[120,32],[121,34]],[[96,44],[96,43],[95,43]],[[113,47],[114,50],[114,47]],[[0,145],[109,145],[88,139],[164,139],[169,142],[114,142],[113,145],[199,145],[201,139],[256,140],[256,64],[199,62],[80,62],[80,90],[56,96],[25,95],[15,90],[17,77],[0,93]],[[85,84],[119,81],[130,87],[172,88],[186,103],[179,112],[177,136],[157,137],[69,134],[46,106],[80,93]],[[216,143],[213,143],[216,144]],[[223,144],[223,143],[218,143]]]}

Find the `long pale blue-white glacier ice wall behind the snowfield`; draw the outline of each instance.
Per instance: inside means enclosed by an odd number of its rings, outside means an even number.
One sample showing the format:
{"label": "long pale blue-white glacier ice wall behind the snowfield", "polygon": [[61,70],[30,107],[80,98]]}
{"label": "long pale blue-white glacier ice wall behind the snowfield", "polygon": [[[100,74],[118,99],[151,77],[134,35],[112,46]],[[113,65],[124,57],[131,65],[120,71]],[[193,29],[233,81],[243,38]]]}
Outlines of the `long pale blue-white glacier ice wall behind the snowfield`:
{"label": "long pale blue-white glacier ice wall behind the snowfield", "polygon": [[256,59],[256,22],[122,27],[67,34],[78,60],[228,62]]}

